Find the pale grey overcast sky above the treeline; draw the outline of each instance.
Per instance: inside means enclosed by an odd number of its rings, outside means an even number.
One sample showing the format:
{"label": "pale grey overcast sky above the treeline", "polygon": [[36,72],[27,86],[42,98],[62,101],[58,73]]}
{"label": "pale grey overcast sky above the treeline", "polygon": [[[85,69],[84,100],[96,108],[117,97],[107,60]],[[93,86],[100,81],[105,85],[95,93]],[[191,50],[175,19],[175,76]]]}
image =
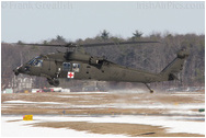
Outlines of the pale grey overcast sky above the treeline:
{"label": "pale grey overcast sky above the treeline", "polygon": [[205,2],[1,2],[1,41],[38,43],[94,37],[106,30],[205,34]]}

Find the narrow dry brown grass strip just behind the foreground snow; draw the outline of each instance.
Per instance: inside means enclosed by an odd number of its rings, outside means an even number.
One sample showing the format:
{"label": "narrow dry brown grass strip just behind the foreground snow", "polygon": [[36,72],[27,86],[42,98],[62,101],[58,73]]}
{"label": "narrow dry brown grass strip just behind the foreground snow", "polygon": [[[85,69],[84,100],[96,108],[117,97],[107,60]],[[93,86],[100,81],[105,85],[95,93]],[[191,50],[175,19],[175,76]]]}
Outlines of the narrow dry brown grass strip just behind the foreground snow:
{"label": "narrow dry brown grass strip just behind the foreground snow", "polygon": [[121,115],[133,115],[133,114],[159,114],[161,115],[167,110],[147,110],[147,108],[9,108],[2,110],[3,114],[59,114],[61,115],[65,111],[65,114],[121,114]]}

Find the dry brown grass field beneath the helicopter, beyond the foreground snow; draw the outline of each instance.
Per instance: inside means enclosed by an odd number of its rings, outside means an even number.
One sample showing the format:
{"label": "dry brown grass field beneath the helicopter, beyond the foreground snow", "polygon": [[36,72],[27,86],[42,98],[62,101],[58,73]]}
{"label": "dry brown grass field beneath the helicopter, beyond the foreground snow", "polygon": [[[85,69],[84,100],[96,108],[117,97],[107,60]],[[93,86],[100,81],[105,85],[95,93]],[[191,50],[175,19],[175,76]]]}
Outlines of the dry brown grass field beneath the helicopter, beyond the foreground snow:
{"label": "dry brown grass field beneath the helicopter, beyond the foreground snow", "polygon": [[[204,96],[204,95],[203,95]],[[2,94],[2,114],[162,114],[167,108],[122,108],[117,107],[72,107],[70,105],[104,105],[104,104],[185,104],[204,103],[195,95],[150,94],[150,93],[19,93]],[[7,104],[5,101],[57,102],[60,104]],[[5,107],[3,107],[5,105]],[[9,105],[10,107],[7,107]]]}

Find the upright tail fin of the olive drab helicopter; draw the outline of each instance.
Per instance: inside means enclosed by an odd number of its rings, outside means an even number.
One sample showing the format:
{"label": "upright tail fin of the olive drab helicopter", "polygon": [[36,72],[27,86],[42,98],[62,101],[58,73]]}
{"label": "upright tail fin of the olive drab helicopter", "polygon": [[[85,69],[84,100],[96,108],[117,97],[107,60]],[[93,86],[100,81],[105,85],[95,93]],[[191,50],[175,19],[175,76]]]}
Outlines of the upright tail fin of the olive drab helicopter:
{"label": "upright tail fin of the olive drab helicopter", "polygon": [[160,76],[162,76],[165,81],[176,80],[178,77],[175,76],[183,69],[183,65],[185,59],[188,57],[188,51],[186,49],[181,49],[178,53],[176,58],[170,62],[161,72]]}

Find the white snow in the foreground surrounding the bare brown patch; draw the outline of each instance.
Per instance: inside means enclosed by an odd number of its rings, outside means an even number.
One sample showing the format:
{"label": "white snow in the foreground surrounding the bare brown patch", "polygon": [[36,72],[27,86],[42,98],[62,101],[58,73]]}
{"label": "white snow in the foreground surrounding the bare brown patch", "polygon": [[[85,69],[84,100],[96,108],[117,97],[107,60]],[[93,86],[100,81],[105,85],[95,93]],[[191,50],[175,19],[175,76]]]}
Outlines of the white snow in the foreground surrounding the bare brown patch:
{"label": "white snow in the foreground surrounding the bare brown patch", "polygon": [[[43,122],[90,122],[90,123],[125,123],[125,124],[144,124],[152,126],[162,126],[168,133],[188,133],[205,135],[205,122],[199,120],[203,117],[183,117],[183,116],[102,116],[102,117],[69,117],[69,116],[34,116],[34,120],[20,120],[22,116],[2,116],[1,135],[7,137],[123,137],[124,135],[99,135],[89,134],[88,131],[77,131],[66,128],[45,128],[32,127],[28,124]],[[124,136],[126,137],[126,136]]]}

